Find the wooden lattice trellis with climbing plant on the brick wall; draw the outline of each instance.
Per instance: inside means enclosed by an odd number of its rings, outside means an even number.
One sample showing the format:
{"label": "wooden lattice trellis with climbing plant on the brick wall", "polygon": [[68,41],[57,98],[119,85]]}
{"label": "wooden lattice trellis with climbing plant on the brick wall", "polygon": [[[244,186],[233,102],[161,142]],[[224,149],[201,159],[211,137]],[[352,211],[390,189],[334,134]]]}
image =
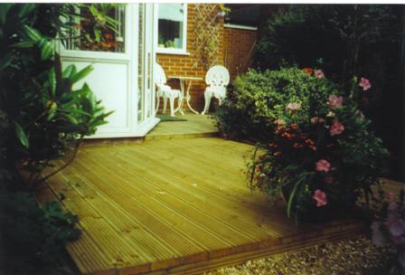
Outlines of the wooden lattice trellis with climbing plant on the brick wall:
{"label": "wooden lattice trellis with climbing plant on the brick wall", "polygon": [[219,62],[221,46],[220,24],[218,24],[219,8],[216,4],[195,4],[195,28],[193,30],[194,55],[198,58],[193,68],[208,69]]}

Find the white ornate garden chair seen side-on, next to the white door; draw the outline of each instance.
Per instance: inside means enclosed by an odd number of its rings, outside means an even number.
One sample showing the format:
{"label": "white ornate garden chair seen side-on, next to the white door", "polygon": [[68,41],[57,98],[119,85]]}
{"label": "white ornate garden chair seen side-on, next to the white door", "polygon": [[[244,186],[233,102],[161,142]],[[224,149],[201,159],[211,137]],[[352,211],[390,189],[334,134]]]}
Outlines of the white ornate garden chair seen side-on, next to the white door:
{"label": "white ornate garden chair seen side-on, next to the white door", "polygon": [[181,102],[183,94],[180,90],[172,89],[169,85],[166,85],[165,71],[158,63],[155,64],[155,85],[156,85],[156,109],[155,113],[159,109],[160,98],[163,98],[163,112],[166,112],[167,99],[170,103],[170,116],[174,117],[174,100],[178,99]]}

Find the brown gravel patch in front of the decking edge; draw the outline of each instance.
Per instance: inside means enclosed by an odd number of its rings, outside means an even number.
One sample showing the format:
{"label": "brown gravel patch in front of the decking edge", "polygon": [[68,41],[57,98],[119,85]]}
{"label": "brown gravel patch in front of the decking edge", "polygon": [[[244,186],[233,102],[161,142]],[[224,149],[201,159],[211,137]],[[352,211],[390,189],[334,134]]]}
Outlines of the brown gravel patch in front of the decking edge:
{"label": "brown gravel patch in front of the decking edge", "polygon": [[[299,275],[299,274],[381,274],[394,253],[392,247],[376,247],[363,236],[326,242],[299,251],[271,255],[266,259],[221,268],[206,275]],[[382,268],[383,270],[383,268]],[[385,272],[384,272],[385,273]]]}

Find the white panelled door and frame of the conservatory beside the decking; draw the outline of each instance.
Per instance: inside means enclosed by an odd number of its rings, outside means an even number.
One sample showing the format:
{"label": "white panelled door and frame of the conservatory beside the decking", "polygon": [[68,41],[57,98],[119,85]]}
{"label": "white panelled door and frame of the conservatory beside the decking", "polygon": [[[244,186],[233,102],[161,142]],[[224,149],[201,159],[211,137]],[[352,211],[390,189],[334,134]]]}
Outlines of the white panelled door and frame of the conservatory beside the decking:
{"label": "white panelled door and frame of the conservatory beside the decking", "polygon": [[127,4],[113,13],[117,31],[105,33],[111,42],[61,46],[62,64],[78,70],[91,64],[94,70],[78,86],[87,82],[105,109],[114,111],[92,137],[142,137],[158,122],[153,112],[154,7]]}

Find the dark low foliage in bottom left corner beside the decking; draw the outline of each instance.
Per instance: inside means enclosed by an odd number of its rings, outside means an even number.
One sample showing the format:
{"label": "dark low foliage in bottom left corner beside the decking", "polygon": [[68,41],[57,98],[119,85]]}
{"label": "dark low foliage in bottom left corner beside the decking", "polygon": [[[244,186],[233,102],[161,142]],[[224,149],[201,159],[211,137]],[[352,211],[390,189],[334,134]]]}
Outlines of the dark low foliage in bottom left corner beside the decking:
{"label": "dark low foliage in bottom left corner beside the decking", "polygon": [[0,194],[5,274],[55,274],[67,242],[77,240],[78,218],[56,202],[38,207],[33,194]]}

